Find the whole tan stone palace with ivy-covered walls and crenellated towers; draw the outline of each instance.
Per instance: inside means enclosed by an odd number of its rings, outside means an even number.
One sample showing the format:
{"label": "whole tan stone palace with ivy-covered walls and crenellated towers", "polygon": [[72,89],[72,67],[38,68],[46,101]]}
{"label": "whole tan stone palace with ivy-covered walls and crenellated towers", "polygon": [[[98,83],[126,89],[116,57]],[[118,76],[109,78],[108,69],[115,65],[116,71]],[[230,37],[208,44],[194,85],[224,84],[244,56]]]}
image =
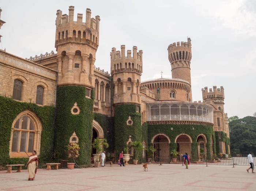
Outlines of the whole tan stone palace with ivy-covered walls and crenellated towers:
{"label": "whole tan stone palace with ivy-covered walls and crenellated towers", "polygon": [[173,149],[195,161],[200,148],[208,159],[230,153],[224,88],[204,87],[203,101],[192,100],[190,38],[167,47],[172,77],[141,81],[142,50],[112,48],[110,73],[95,67],[100,17],[87,8],[84,23],[80,13],[74,21],[73,6],[68,11],[56,13],[57,53],[24,59],[0,50],[0,165],[33,150],[45,163],[67,159],[66,146],[77,143],[78,163],[89,166],[95,138],[107,140],[111,156],[127,147],[132,157],[129,143],[140,141],[140,159],[153,146],[163,163]]}

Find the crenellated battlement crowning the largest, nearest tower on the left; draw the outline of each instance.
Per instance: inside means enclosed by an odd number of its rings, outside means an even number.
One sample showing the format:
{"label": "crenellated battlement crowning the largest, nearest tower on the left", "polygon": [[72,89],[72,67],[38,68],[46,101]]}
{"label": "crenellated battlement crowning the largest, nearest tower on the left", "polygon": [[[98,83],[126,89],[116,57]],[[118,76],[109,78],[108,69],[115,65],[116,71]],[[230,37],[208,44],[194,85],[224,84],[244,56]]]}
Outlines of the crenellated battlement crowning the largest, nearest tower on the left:
{"label": "crenellated battlement crowning the largest, nearest tower on the left", "polygon": [[99,16],[91,18],[91,9],[86,9],[86,22],[83,22],[83,14],[77,14],[74,21],[74,6],[69,6],[69,13],[62,14],[57,10],[55,47],[67,42],[86,43],[94,48],[99,45]]}

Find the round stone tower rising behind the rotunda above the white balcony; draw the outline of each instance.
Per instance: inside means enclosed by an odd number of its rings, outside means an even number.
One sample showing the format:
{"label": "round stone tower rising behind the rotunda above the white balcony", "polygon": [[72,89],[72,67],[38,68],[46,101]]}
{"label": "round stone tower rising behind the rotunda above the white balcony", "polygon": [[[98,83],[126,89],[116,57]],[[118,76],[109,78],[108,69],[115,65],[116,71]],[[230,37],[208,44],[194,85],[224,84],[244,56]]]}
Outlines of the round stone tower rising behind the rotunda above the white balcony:
{"label": "round stone tower rising behind the rotunda above the white balcony", "polygon": [[[167,50],[168,58],[172,66],[172,78],[184,79],[191,85],[191,39],[188,38],[188,42],[170,44]],[[189,99],[192,101],[192,91],[189,93]]]}

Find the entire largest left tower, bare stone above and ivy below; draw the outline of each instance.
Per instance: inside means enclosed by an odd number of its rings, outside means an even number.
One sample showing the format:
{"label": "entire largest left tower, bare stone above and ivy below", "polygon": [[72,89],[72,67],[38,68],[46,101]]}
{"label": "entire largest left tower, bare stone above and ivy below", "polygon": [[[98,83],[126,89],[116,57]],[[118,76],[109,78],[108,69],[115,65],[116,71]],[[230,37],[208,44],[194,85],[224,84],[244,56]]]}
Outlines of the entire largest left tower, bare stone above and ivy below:
{"label": "entire largest left tower, bare stone above and ivy below", "polygon": [[[65,157],[66,145],[76,136],[79,144],[79,163],[90,165],[93,136],[94,62],[99,44],[99,16],[91,18],[86,9],[86,23],[78,13],[74,21],[74,7],[69,15],[57,10],[55,47],[57,50],[57,96],[55,151]],[[78,142],[79,140],[79,142]]]}

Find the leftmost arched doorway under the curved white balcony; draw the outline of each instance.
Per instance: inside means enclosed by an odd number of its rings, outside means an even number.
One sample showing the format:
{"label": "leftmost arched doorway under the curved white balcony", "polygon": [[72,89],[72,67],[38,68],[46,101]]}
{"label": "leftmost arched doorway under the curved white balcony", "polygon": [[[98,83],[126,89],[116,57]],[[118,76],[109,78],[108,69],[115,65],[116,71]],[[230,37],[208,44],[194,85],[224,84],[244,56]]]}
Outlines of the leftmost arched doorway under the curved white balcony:
{"label": "leftmost arched doorway under the curved white balcony", "polygon": [[153,145],[155,149],[155,162],[159,162],[160,158],[162,163],[170,162],[169,144],[170,139],[166,135],[156,135],[153,137]]}

